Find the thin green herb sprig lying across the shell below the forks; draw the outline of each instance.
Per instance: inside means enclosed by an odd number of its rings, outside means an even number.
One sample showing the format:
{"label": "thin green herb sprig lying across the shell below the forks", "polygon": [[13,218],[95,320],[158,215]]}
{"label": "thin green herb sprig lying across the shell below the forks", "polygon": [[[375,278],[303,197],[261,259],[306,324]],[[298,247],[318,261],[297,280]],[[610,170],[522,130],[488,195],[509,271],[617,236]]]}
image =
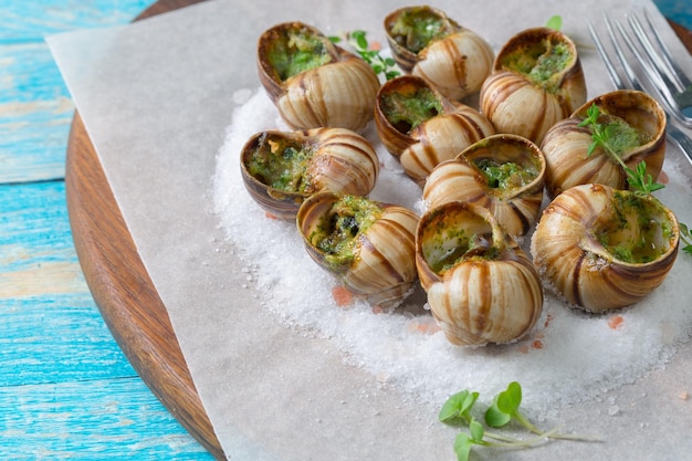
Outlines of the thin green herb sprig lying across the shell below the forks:
{"label": "thin green herb sprig lying across the shell below the forks", "polygon": [[588,126],[591,129],[591,144],[587,150],[587,155],[594,154],[596,148],[604,149],[614,160],[616,160],[627,174],[627,182],[635,193],[647,196],[664,186],[653,181],[651,174],[647,172],[647,164],[641,160],[636,169],[631,169],[625,164],[622,157],[610,146],[611,139],[616,136],[618,129],[617,124],[601,124],[598,122],[600,111],[596,104],[591,104],[586,111],[586,118],[579,123],[579,126]]}

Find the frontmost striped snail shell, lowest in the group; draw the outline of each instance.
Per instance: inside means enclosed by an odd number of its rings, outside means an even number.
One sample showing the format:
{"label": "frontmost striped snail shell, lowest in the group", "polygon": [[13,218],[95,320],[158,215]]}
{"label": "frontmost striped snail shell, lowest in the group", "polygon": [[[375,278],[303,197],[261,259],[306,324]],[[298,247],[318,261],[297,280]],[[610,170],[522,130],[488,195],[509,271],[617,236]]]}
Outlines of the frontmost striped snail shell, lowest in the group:
{"label": "frontmost striped snail shell, lowest in the group", "polygon": [[515,340],[543,311],[531,259],[481,206],[452,201],[426,212],[416,264],[430,311],[453,344]]}

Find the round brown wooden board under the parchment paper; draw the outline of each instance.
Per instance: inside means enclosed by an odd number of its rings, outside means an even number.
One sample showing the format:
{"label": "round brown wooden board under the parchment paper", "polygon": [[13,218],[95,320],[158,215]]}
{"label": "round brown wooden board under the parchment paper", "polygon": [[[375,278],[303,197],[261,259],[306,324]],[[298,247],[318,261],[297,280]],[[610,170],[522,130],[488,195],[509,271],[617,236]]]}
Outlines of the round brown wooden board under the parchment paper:
{"label": "round brown wooden board under the parchment paper", "polygon": [[[158,0],[137,19],[203,0]],[[692,32],[671,23],[692,53]],[[75,113],[65,187],[74,244],[101,314],[141,379],[217,459],[226,459],[195,389],[166,306],[137,253],[111,186]]]}

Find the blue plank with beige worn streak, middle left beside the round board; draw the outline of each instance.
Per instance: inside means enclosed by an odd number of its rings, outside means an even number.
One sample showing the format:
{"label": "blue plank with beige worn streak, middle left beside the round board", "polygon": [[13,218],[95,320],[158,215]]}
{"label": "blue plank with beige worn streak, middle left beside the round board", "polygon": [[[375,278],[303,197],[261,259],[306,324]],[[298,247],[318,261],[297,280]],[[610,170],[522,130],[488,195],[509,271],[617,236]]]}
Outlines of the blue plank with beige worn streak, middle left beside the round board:
{"label": "blue plank with beige worn streak, middle left beside the round board", "polygon": [[135,376],[84,282],[64,188],[0,186],[0,386]]}

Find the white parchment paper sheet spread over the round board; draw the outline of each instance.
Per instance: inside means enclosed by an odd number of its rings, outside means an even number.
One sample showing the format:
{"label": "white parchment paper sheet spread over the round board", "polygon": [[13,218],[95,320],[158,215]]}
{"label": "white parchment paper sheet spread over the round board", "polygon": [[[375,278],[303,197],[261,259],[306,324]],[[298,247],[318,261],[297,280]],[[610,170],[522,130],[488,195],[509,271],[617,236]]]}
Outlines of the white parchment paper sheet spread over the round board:
{"label": "white parchment paper sheet spread over the round board", "polygon": [[[327,34],[365,29],[384,43],[381,20],[406,4],[217,0],[128,27],[49,39],[229,459],[454,458],[455,432],[437,422],[437,409],[382,386],[347,365],[328,339],[286,328],[261,308],[249,274],[237,264],[242,249],[226,239],[211,197],[216,156],[233,109],[259,86],[255,44],[262,31],[300,20]],[[563,15],[573,39],[590,43],[584,18],[600,23],[604,8],[597,0],[433,4],[495,50],[553,14]],[[614,1],[608,10],[641,6],[654,13],[692,73],[685,50],[650,2]],[[589,95],[612,88],[588,48],[583,63]],[[692,222],[684,212],[681,220]],[[480,451],[476,459],[689,457],[692,404],[679,392],[691,390],[691,349],[682,345],[671,363],[635,385],[549,415],[579,432],[604,434],[606,442]]]}

